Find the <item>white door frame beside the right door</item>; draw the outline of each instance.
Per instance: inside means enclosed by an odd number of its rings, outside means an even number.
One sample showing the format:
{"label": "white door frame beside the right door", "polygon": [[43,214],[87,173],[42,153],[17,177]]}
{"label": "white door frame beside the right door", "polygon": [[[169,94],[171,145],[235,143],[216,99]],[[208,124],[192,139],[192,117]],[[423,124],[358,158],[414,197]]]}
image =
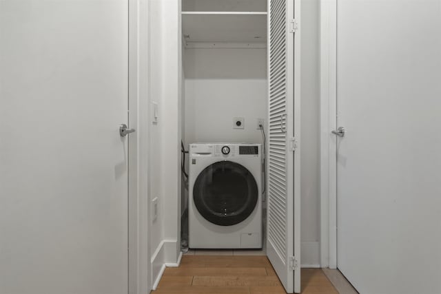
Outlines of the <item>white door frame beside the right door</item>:
{"label": "white door frame beside the right door", "polygon": [[337,3],[320,0],[320,266],[337,268]]}

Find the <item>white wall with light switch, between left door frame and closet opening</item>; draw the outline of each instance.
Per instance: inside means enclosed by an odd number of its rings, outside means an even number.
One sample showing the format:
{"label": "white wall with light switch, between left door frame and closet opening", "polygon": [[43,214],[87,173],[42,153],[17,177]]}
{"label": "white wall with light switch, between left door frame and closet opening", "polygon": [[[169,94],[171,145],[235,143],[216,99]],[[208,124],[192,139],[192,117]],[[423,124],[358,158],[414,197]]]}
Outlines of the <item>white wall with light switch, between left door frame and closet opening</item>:
{"label": "white wall with light switch, between left door frame and closet opening", "polygon": [[[178,261],[178,207],[181,195],[181,34],[178,0],[150,0],[150,102],[158,104],[158,120],[150,121],[150,201],[152,280],[165,264]],[[153,107],[152,107],[153,108]]]}

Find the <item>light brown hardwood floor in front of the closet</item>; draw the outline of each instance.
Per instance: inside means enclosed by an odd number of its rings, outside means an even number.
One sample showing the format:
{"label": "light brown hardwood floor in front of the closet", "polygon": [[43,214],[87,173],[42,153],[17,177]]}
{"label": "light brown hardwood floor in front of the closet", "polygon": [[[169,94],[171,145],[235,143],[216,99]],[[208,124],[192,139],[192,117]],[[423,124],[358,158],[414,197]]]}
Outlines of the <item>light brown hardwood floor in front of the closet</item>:
{"label": "light brown hardwood floor in front of the closet", "polygon": [[[302,293],[338,294],[321,269],[302,269]],[[266,256],[184,255],[152,294],[285,294]]]}

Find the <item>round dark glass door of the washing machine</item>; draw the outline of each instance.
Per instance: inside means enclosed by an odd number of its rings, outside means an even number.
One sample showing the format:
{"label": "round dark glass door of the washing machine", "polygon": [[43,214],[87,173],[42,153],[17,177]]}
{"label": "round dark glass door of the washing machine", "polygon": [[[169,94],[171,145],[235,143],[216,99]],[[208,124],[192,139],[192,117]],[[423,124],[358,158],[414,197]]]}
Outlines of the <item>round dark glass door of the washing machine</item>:
{"label": "round dark glass door of the washing machine", "polygon": [[220,161],[205,168],[193,187],[196,209],[209,222],[232,226],[246,220],[256,208],[258,187],[248,169]]}

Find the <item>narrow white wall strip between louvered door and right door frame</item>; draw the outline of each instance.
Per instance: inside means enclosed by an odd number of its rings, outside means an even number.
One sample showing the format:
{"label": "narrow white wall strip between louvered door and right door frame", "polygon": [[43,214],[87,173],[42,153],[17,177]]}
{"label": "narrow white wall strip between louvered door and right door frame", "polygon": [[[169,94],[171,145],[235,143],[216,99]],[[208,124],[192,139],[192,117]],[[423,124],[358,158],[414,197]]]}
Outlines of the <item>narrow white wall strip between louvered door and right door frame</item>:
{"label": "narrow white wall strip between louvered door and right door frame", "polygon": [[319,0],[302,0],[301,239],[304,266],[320,264]]}

